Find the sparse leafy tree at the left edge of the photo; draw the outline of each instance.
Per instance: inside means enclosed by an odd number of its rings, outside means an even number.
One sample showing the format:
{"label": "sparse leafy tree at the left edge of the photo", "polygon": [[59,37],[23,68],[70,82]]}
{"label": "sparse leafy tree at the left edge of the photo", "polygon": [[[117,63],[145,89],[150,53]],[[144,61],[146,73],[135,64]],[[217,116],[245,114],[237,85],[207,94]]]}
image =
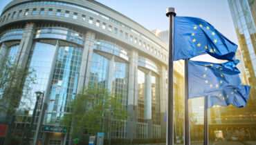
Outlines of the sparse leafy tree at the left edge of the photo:
{"label": "sparse leafy tree at the left edge of the photo", "polygon": [[[0,62],[0,113],[15,113],[21,96],[28,97],[35,84],[33,71],[19,68],[10,58]],[[29,98],[29,97],[28,97]]]}

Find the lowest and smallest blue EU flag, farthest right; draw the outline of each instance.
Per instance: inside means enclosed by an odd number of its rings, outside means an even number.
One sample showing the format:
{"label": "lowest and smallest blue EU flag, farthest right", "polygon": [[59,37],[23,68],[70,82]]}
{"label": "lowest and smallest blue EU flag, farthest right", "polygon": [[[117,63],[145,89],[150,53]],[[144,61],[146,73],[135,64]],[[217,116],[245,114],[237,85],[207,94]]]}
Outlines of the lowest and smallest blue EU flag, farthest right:
{"label": "lowest and smallest blue EU flag, farthest right", "polygon": [[237,108],[245,107],[249,98],[250,86],[240,85],[235,88],[225,88],[208,95],[208,108],[214,105],[228,106],[232,104]]}

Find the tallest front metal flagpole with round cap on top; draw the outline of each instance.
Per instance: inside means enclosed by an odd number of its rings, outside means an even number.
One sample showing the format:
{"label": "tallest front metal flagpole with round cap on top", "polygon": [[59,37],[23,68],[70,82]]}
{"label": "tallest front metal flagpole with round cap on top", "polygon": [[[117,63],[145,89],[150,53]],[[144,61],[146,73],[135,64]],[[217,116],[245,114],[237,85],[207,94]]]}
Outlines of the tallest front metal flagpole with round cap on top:
{"label": "tallest front metal flagpole with round cap on top", "polygon": [[166,144],[174,144],[174,128],[173,128],[173,28],[174,16],[176,16],[175,8],[167,8],[166,16],[170,19],[169,27],[169,64],[168,64],[168,101],[167,101],[167,133]]}

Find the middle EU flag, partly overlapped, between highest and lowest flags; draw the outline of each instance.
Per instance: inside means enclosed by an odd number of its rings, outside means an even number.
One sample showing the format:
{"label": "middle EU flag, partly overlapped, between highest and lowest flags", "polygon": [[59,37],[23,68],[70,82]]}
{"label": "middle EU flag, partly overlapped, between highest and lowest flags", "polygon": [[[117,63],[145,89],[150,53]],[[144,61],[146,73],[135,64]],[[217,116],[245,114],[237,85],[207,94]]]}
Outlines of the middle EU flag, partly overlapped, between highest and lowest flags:
{"label": "middle EU flag, partly overlapped, between highest and lowest flags", "polygon": [[239,86],[238,61],[214,64],[188,60],[188,98],[203,97],[227,87]]}

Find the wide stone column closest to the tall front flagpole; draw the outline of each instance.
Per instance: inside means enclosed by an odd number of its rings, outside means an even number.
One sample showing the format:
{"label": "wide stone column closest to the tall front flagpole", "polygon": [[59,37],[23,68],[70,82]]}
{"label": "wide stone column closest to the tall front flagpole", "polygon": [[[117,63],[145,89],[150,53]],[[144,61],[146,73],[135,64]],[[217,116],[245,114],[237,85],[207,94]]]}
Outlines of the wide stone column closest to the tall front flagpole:
{"label": "wide stone column closest to the tall front flagpole", "polygon": [[165,122],[165,113],[167,113],[167,92],[166,92],[166,70],[165,66],[161,67],[160,80],[159,80],[159,95],[160,95],[160,124],[161,124],[161,138],[166,137],[166,122]]}

